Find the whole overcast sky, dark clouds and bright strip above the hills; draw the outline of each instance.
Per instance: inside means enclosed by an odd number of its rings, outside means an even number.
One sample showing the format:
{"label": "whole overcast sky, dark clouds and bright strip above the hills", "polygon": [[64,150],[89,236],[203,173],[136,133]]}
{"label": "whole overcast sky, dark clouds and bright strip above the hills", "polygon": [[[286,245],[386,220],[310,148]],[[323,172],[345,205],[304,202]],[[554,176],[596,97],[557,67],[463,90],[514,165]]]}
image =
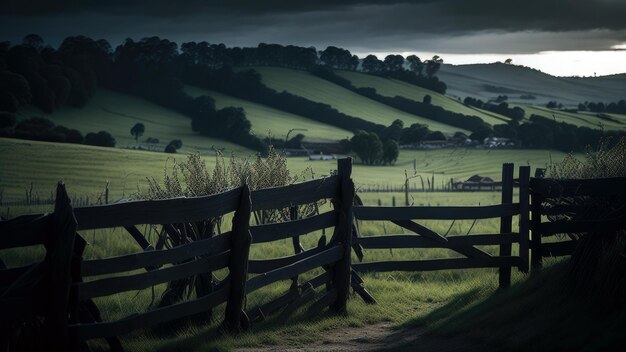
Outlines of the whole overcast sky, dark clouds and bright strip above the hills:
{"label": "whole overcast sky, dark clouds and bright strip above the hills", "polygon": [[626,72],[625,0],[1,0],[0,40],[38,33],[158,35],[228,46],[260,42],[440,55],[462,64],[512,58],[555,75]]}

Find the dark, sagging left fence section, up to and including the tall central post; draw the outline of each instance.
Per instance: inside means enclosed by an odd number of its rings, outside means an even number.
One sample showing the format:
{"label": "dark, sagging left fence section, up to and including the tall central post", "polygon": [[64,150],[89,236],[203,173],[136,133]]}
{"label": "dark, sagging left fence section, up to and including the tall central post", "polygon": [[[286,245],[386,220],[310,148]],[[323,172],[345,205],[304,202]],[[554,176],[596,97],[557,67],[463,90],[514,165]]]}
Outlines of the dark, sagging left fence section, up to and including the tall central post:
{"label": "dark, sagging left fence section, up to and including the tall central post", "polygon": [[[104,337],[112,350],[121,350],[116,336],[183,317],[210,312],[226,302],[224,326],[236,332],[249,325],[243,310],[247,294],[281,280],[294,280],[287,298],[268,302],[251,314],[255,319],[287,305],[293,311],[316,299],[312,310],[332,306],[345,310],[350,285],[350,240],[354,185],[351,159],[340,160],[338,173],[324,179],[250,192],[247,186],[197,198],[127,202],[72,209],[63,184],[57,188],[52,214],[22,216],[0,222],[0,249],[44,245],[45,259],[25,267],[0,270],[0,324],[44,317],[42,344],[53,351],[78,350],[83,341]],[[305,219],[250,226],[256,210],[284,209],[319,199],[333,199],[334,209]],[[170,231],[180,224],[198,224],[234,212],[232,230],[171,249],[155,250],[136,225],[161,224]],[[177,226],[173,226],[177,225]],[[143,252],[111,258],[83,260],[85,241],[77,231],[124,227]],[[267,260],[249,260],[250,246],[334,228],[333,237],[317,248]],[[143,240],[143,241],[142,241]],[[294,240],[295,242],[295,240]],[[322,275],[298,285],[298,275],[315,268]],[[103,322],[93,299],[140,290],[160,283],[227,268],[228,276],[211,284],[208,293],[193,300],[141,314]],[[136,273],[143,269],[143,272]],[[131,272],[129,274],[129,272]],[[120,275],[121,273],[125,273]],[[250,275],[248,275],[250,274]],[[105,276],[104,278],[102,276]],[[314,297],[313,289],[326,284]],[[33,289],[37,288],[37,289]],[[306,300],[303,298],[305,297]],[[295,302],[295,303],[294,303]]]}

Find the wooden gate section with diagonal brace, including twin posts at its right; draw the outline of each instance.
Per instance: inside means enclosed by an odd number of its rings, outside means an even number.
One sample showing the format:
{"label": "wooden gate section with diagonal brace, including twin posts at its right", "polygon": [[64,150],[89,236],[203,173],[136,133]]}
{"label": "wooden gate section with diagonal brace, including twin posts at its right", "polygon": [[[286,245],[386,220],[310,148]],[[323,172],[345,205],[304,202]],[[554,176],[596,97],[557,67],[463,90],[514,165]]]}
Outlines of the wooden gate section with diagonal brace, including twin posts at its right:
{"label": "wooden gate section with diagonal brace, including twin posts at its right", "polygon": [[[507,287],[511,281],[511,267],[528,270],[528,180],[530,167],[519,169],[519,202],[513,203],[513,164],[502,168],[502,204],[489,206],[413,206],[413,207],[371,207],[356,206],[357,220],[391,221],[409,230],[414,235],[385,235],[362,237],[357,244],[365,249],[392,248],[447,248],[464,258],[441,258],[415,261],[381,261],[355,263],[357,272],[381,271],[430,271],[468,268],[500,268],[500,286]],[[519,229],[512,231],[512,217],[519,215]],[[413,220],[462,220],[500,218],[500,233],[444,237]],[[511,255],[513,243],[519,243],[519,254]],[[499,245],[498,256],[477,248],[483,245]]]}

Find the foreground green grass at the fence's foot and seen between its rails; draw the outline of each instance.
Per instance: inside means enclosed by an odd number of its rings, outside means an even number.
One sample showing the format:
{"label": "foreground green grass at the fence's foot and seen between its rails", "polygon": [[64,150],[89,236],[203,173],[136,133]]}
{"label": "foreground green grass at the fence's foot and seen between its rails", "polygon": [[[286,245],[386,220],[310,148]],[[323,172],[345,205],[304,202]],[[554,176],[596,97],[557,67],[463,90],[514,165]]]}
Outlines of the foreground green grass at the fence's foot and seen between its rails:
{"label": "foreground green grass at the fence's foot and seen between its rails", "polygon": [[[456,197],[450,194],[428,194],[429,199],[440,204],[472,204],[490,203],[495,201],[492,193],[473,193],[471,197],[459,194]],[[470,200],[471,198],[471,200]],[[366,203],[372,201],[368,195],[364,196]],[[41,212],[45,209],[41,206],[20,207],[16,214]],[[229,228],[228,221],[224,221],[224,230]],[[445,233],[447,223],[425,223],[434,230]],[[474,227],[472,233],[495,232],[499,226],[498,221],[486,221]],[[394,231],[390,223],[365,222],[360,224],[362,235],[381,235],[386,231]],[[152,242],[156,241],[154,232],[149,227],[141,226],[140,229],[149,235]],[[463,234],[465,233],[463,231]],[[453,230],[452,233],[457,233]],[[125,233],[123,229],[107,229],[87,231],[81,233],[87,240],[88,246],[85,257],[89,259],[103,258],[112,255],[121,255],[139,251],[137,244]],[[315,232],[301,236],[301,242],[305,248],[316,245],[321,233]],[[329,234],[327,234],[329,236]],[[487,248],[493,250],[492,248]],[[268,244],[253,245],[252,258],[273,258],[292,254],[291,240],[281,240]],[[41,259],[42,248],[26,248],[17,251],[0,251],[0,257],[9,266],[24,265],[33,260]],[[426,259],[434,257],[450,257],[453,253],[441,249],[428,250],[370,250],[365,252],[365,261]],[[354,258],[356,260],[356,258]],[[223,277],[225,273],[215,273]],[[301,276],[306,280],[318,271],[314,270]],[[514,282],[523,280],[524,276],[513,270]],[[484,297],[494,294],[497,289],[497,271],[492,269],[442,271],[427,273],[384,273],[365,275],[367,289],[378,300],[377,305],[366,305],[358,296],[352,296],[347,316],[336,316],[325,312],[313,319],[306,318],[303,312],[297,312],[284,320],[271,318],[253,330],[239,336],[228,336],[221,333],[220,320],[223,316],[223,306],[214,311],[215,322],[208,326],[191,326],[182,328],[177,335],[162,335],[153,330],[138,331],[123,336],[122,342],[128,350],[133,351],[170,351],[170,350],[230,350],[240,347],[255,347],[260,345],[292,345],[299,346],[323,339],[324,335],[337,329],[346,327],[359,327],[368,324],[386,322],[395,327],[403,327],[412,324],[416,320],[430,317],[438,309],[452,303],[455,297],[465,295],[468,292],[480,292]],[[288,289],[288,283],[271,285],[249,296],[246,309],[254,307],[277,297]],[[152,306],[153,297],[158,297],[164,290],[164,285],[145,289],[138,292],[126,292],[108,297],[98,298],[96,303],[100,307],[105,320],[119,319],[132,313],[143,312]],[[482,297],[482,296],[481,296]],[[95,350],[100,350],[101,345],[94,344]]]}

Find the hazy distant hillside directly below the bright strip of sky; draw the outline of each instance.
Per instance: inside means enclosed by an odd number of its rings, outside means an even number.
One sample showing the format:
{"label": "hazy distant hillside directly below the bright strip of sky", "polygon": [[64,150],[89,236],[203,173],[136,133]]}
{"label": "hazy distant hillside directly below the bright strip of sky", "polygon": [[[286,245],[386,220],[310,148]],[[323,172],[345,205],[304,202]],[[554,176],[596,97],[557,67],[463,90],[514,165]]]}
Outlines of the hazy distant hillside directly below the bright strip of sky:
{"label": "hazy distant hillside directly below the bright strip of sky", "polygon": [[[626,98],[626,75],[564,78],[527,67],[505,64],[442,65],[437,76],[448,85],[449,95],[483,100],[508,95],[511,101],[545,104],[556,100],[575,106],[584,101],[618,101]],[[533,95],[534,100],[521,99]]]}

